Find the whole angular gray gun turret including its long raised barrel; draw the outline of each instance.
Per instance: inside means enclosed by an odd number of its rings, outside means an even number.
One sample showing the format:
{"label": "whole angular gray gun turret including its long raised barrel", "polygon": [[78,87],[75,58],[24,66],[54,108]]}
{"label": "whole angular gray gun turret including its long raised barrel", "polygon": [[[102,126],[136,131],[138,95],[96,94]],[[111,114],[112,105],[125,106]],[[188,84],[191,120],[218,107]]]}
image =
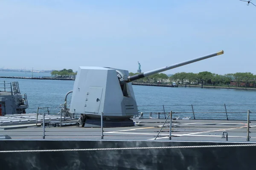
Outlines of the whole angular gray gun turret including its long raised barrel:
{"label": "whole angular gray gun turret including its long raised barrel", "polygon": [[82,114],[82,127],[101,126],[101,117],[104,119],[104,127],[134,126],[130,118],[138,114],[138,108],[132,85],[128,82],[221,54],[224,51],[129,77],[127,70],[79,67],[69,112]]}

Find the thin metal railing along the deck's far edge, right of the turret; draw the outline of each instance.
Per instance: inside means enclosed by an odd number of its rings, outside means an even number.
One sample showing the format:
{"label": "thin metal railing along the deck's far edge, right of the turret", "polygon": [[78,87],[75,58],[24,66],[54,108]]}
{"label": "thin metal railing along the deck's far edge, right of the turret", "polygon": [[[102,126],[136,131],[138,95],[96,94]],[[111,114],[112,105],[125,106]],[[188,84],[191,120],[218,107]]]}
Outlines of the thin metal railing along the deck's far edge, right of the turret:
{"label": "thin metal railing along the deck's far edge, right of the turret", "polygon": [[[248,108],[256,113],[256,105],[148,105],[138,106],[139,114],[148,114],[144,118],[166,119],[166,110],[180,113],[180,117],[191,119],[216,119],[216,120],[247,120]],[[137,115],[139,116],[139,115]],[[154,116],[154,117],[153,117]],[[256,120],[256,114],[251,115],[251,120]]]}

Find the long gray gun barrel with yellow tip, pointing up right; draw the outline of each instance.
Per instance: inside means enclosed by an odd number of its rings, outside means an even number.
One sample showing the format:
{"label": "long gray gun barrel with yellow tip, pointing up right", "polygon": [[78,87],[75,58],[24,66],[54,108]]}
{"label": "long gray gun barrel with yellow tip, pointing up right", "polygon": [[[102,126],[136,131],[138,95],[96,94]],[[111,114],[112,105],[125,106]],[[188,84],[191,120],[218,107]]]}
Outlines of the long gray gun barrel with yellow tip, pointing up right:
{"label": "long gray gun barrel with yellow tip, pointing up right", "polygon": [[205,55],[205,56],[202,56],[202,57],[198,57],[198,58],[195,58],[195,59],[190,59],[190,60],[187,60],[187,61],[184,61],[184,62],[180,62],[180,63],[177,63],[177,64],[169,65],[169,66],[158,68],[158,69],[151,70],[151,71],[146,71],[145,73],[140,73],[140,74],[136,74],[134,76],[129,76],[129,77],[127,77],[127,79],[122,79],[120,82],[131,82],[131,81],[134,81],[134,80],[137,80],[137,79],[141,79],[143,77],[150,76],[152,74],[160,73],[160,72],[163,72],[163,71],[166,71],[166,70],[171,70],[173,68],[177,68],[177,67],[180,67],[180,66],[183,66],[183,65],[187,65],[187,64],[190,64],[190,63],[193,63],[193,62],[197,62],[197,61],[207,59],[207,58],[210,58],[210,57],[214,57],[214,56],[217,56],[217,55],[221,55],[221,54],[224,54],[223,50],[218,51],[216,53],[208,54],[208,55]]}

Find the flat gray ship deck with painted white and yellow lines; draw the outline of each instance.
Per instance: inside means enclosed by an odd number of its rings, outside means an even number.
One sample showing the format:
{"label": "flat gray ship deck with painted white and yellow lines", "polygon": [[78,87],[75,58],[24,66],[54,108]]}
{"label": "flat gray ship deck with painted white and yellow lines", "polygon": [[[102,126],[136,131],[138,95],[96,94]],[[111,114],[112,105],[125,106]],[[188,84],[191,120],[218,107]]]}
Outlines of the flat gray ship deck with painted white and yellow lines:
{"label": "flat gray ship deck with painted white and yellow lines", "polygon": [[[105,127],[104,140],[154,140],[165,119],[134,119],[140,125],[132,127]],[[225,120],[173,120],[172,141],[226,142],[221,138],[228,132],[228,142],[247,142],[247,121]],[[250,142],[256,142],[256,122],[250,123]],[[46,127],[45,140],[101,140],[99,127]],[[0,135],[13,139],[42,139],[43,127],[0,129]],[[167,121],[156,140],[169,140]]]}

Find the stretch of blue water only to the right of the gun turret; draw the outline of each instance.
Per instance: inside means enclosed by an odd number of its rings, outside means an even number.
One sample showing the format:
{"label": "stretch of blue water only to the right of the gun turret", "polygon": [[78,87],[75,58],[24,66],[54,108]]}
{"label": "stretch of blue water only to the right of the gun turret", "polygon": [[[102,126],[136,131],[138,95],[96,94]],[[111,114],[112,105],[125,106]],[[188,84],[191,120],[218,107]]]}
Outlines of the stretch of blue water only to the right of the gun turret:
{"label": "stretch of blue water only to the right of the gun turret", "polygon": [[174,115],[175,117],[194,118],[195,114],[196,119],[227,119],[228,117],[228,119],[246,120],[247,110],[250,110],[252,112],[250,118],[256,119],[256,91],[134,85],[134,93],[139,111],[143,113],[165,110],[179,112]]}

